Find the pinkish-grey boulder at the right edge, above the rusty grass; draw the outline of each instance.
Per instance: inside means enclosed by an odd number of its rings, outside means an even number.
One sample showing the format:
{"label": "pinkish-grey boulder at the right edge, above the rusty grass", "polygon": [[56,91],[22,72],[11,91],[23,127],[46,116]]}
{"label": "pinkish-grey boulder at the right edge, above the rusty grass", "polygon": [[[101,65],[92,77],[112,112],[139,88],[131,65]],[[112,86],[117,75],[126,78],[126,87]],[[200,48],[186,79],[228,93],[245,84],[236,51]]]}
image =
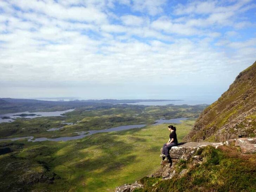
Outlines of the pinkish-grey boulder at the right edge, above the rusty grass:
{"label": "pinkish-grey boulder at the right edge, above the rusty grass", "polygon": [[235,146],[239,146],[242,153],[256,153],[256,138],[239,138]]}

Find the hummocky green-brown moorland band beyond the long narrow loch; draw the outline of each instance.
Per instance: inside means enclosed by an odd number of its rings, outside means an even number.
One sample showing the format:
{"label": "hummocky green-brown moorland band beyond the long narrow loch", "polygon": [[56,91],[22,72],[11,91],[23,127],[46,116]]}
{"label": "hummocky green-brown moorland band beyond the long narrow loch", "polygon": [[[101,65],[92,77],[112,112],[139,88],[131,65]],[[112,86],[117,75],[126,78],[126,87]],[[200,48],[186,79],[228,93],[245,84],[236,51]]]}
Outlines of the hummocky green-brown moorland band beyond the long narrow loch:
{"label": "hummocky green-brown moorland band beyond the long narrow loch", "polygon": [[[113,105],[104,104],[90,107],[78,107],[65,113],[65,117],[37,117],[34,119],[19,118],[11,123],[0,123],[0,139],[34,136],[54,138],[59,136],[74,136],[74,132],[100,130],[130,124],[153,124],[157,119],[174,119],[179,117],[196,118],[205,105]],[[89,109],[89,110],[88,110]],[[62,129],[47,132],[50,128],[63,127],[62,121],[73,122]]]}

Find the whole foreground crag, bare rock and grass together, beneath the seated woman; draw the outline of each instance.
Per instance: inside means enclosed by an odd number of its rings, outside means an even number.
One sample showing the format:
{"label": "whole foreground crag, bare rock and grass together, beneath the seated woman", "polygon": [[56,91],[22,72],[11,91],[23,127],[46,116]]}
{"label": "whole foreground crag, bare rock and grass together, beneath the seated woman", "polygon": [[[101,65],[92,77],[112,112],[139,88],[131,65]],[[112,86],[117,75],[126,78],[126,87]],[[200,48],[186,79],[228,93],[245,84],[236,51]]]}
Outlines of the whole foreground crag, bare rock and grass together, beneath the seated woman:
{"label": "whole foreground crag, bare rock and grass together, beneath the seated woman", "polygon": [[169,154],[172,162],[116,192],[256,190],[256,138],[181,143]]}

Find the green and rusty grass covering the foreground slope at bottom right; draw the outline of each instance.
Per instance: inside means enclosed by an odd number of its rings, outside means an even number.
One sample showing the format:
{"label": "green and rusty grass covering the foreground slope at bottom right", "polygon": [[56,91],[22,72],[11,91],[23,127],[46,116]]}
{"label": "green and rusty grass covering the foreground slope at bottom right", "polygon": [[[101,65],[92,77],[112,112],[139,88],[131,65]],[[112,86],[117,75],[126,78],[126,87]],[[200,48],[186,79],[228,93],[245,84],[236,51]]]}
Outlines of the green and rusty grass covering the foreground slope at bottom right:
{"label": "green and rusty grass covering the foreground slope at bottom right", "polygon": [[162,181],[159,178],[143,178],[139,182],[145,188],[134,192],[256,191],[256,154],[241,154],[235,147],[215,149],[207,146],[197,155],[203,157],[203,164],[182,160],[176,170],[180,173],[188,169],[187,173]]}

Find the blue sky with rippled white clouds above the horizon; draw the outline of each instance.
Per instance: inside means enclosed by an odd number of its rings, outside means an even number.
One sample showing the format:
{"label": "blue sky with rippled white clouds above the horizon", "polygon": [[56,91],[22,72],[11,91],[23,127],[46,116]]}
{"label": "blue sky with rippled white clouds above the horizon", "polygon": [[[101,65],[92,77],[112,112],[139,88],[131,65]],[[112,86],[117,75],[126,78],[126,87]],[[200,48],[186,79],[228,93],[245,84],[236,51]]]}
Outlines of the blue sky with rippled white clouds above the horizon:
{"label": "blue sky with rippled white clouds above the horizon", "polygon": [[255,53],[253,0],[0,0],[0,97],[216,100]]}

